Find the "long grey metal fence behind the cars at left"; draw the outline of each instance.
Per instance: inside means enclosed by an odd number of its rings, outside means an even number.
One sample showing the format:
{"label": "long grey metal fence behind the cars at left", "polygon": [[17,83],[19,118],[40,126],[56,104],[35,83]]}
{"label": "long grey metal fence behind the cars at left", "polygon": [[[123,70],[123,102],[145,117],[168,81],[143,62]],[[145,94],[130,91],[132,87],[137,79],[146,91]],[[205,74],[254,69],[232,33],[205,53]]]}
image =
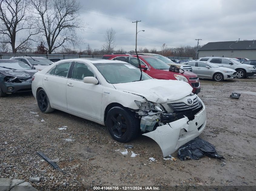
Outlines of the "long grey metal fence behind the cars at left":
{"label": "long grey metal fence behind the cars at left", "polygon": [[102,58],[98,55],[75,55],[75,54],[0,54],[0,59],[10,59],[13,56],[31,56],[31,57],[44,57],[55,59],[74,59],[74,58]]}

